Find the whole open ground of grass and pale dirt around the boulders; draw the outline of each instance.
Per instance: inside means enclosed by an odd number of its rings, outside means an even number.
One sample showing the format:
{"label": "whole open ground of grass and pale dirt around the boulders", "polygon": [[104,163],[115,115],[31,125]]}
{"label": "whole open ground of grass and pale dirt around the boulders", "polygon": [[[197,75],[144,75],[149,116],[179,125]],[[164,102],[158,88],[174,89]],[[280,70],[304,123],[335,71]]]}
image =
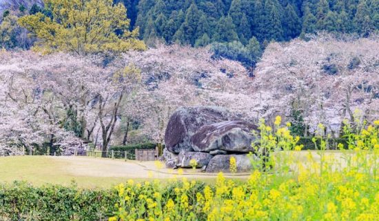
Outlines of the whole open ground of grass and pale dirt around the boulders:
{"label": "whole open ground of grass and pale dirt around the boulders", "polygon": [[[316,161],[319,156],[316,151],[310,151]],[[300,162],[307,160],[308,151],[294,153]],[[336,155],[338,151],[325,151],[326,154]],[[62,184],[72,182],[85,188],[110,188],[121,182],[133,179],[136,182],[153,179],[170,180],[176,177],[177,171],[156,169],[154,162],[135,162],[111,160],[99,157],[50,157],[50,156],[16,156],[0,157],[0,182],[23,180],[34,185]],[[244,175],[225,175],[235,179],[244,179]],[[177,177],[181,177],[180,175]],[[203,180],[214,182],[216,175],[209,173],[195,173],[191,169],[185,170],[183,177],[189,180]]]}

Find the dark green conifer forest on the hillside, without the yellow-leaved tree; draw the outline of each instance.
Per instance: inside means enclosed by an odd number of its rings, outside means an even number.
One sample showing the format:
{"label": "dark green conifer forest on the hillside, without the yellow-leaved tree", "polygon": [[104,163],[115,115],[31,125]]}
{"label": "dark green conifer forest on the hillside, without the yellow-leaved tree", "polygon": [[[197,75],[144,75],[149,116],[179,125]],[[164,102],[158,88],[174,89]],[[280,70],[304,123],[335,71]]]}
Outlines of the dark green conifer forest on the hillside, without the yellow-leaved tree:
{"label": "dark green conifer forest on the hillside, without the yellow-leaved tree", "polygon": [[[215,57],[254,67],[269,41],[288,41],[319,31],[367,37],[379,28],[378,0],[115,0],[123,3],[130,28],[139,27],[148,46],[165,43],[207,46]],[[34,39],[17,18],[38,12],[52,17],[40,0],[3,1],[0,46],[30,48]],[[99,15],[101,16],[101,15]]]}

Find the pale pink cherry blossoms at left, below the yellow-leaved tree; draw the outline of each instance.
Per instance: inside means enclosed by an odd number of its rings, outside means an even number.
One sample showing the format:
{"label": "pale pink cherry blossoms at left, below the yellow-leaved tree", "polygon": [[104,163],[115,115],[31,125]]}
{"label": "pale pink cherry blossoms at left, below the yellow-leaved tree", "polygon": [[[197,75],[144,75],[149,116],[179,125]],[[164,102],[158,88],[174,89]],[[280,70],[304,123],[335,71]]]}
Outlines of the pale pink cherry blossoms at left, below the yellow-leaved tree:
{"label": "pale pink cherry blossoms at left, below the yellow-leaved tree", "polygon": [[[103,148],[107,148],[119,117],[120,100],[136,80],[130,68],[118,64],[103,67],[99,58],[66,54],[42,57],[32,52],[13,52],[1,56],[5,58],[1,80],[6,85],[1,90],[1,113],[5,115],[12,106],[15,116],[24,121],[34,119],[26,121],[34,127],[29,128],[31,131],[41,134],[40,142],[33,144],[41,144],[45,137],[50,137],[51,144],[58,140],[57,144],[72,143],[68,140],[74,136],[63,132],[70,131],[76,137],[84,137],[87,132],[90,137],[94,124],[99,123]],[[19,131],[32,135],[25,128]]]}

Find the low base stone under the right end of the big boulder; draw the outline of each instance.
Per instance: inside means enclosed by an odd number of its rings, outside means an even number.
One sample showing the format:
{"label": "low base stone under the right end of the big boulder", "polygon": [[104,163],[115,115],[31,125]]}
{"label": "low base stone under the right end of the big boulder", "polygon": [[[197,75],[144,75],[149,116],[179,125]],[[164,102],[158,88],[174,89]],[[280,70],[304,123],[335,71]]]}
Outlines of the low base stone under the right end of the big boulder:
{"label": "low base stone under the right end of the big boulder", "polygon": [[251,160],[256,160],[256,156],[249,156],[247,154],[242,155],[216,155],[209,161],[207,169],[208,173],[218,173],[225,172],[230,173],[230,157],[236,158],[236,172],[249,172],[252,171],[252,162]]}

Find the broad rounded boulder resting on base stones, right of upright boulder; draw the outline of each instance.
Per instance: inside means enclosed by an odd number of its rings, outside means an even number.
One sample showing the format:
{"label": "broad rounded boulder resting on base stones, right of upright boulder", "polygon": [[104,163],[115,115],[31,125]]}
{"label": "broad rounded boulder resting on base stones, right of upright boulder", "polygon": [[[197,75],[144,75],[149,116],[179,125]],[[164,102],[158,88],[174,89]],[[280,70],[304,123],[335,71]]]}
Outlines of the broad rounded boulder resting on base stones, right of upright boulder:
{"label": "broad rounded boulder resting on base stones, right of upright boulder", "polygon": [[214,152],[216,150],[232,153],[254,152],[252,142],[258,140],[258,127],[245,121],[225,121],[205,125],[191,137],[194,151]]}

